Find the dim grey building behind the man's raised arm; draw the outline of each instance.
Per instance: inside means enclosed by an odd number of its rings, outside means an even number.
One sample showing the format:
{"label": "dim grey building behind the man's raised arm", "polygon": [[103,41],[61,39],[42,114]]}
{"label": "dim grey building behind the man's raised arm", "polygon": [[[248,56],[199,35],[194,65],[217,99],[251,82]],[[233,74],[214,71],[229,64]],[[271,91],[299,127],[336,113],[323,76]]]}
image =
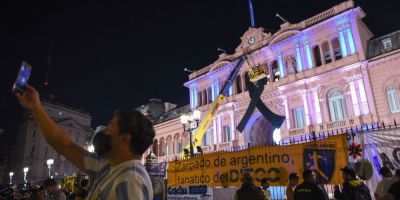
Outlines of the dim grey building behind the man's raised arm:
{"label": "dim grey building behind the man's raised arm", "polygon": [[[90,128],[92,117],[81,110],[42,100],[50,117],[79,145],[85,146],[90,141],[93,130]],[[42,136],[35,120],[27,115],[18,130],[16,145],[10,156],[9,171],[14,172],[14,183],[23,183],[23,168],[28,167],[29,182],[43,181],[49,176],[48,159],[54,159],[51,176],[59,179],[77,173],[77,168],[58,154]]]}

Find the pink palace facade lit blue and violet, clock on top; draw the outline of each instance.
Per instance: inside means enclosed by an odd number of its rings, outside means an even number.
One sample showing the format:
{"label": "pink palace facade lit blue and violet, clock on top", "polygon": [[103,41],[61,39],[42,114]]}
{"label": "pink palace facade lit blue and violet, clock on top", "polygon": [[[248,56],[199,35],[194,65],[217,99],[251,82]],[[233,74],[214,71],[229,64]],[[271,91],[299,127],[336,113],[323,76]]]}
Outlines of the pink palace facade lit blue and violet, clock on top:
{"label": "pink palace facade lit blue and violet, clock on top", "polygon": [[245,63],[203,138],[203,151],[400,119],[400,32],[371,40],[363,17],[360,7],[346,1],[299,23],[284,23],[276,33],[249,28],[234,54],[223,53],[189,75],[184,85],[190,107],[166,113],[169,118],[155,125],[153,152],[158,160],[179,155],[188,142],[179,116],[191,109],[205,114],[232,70],[232,61],[244,54],[251,65],[265,67],[269,82],[261,99],[286,120],[280,134],[273,134],[271,124],[255,110],[245,130],[236,130],[250,101]]}

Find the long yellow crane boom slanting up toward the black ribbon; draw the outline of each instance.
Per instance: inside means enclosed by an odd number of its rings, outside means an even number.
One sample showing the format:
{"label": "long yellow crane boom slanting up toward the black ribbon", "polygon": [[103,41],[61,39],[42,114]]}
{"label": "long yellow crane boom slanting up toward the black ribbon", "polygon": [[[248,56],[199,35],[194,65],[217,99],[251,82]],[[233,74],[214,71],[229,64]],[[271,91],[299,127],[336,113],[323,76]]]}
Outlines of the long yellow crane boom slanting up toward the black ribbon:
{"label": "long yellow crane boom slanting up toward the black ribbon", "polygon": [[[222,105],[222,103],[224,102],[224,99],[226,98],[226,96],[228,96],[229,93],[229,87],[232,86],[233,81],[235,80],[235,78],[237,77],[240,68],[243,64],[243,62],[245,61],[245,56],[242,56],[239,61],[236,63],[235,67],[233,68],[233,70],[231,71],[231,73],[228,76],[228,79],[226,80],[224,86],[222,87],[221,91],[219,92],[217,98],[214,100],[214,102],[210,105],[210,108],[207,111],[207,114],[203,117],[203,119],[200,121],[200,124],[198,126],[198,128],[196,129],[196,131],[194,132],[194,146],[200,146],[201,145],[201,141],[202,138],[205,134],[205,132],[207,131],[207,128],[210,126],[215,113],[217,112],[218,108],[220,105]],[[192,141],[190,141],[192,142]],[[190,143],[186,145],[186,148],[189,148]]]}

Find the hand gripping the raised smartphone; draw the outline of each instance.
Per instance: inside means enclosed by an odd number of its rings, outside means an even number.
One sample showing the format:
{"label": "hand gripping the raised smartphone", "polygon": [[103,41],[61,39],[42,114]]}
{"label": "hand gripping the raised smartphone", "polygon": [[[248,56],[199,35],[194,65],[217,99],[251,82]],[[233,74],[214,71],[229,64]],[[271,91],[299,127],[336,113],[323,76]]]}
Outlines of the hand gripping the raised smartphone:
{"label": "hand gripping the raised smartphone", "polygon": [[27,110],[32,111],[40,106],[39,92],[32,86],[26,85],[24,93],[15,94],[19,103]]}

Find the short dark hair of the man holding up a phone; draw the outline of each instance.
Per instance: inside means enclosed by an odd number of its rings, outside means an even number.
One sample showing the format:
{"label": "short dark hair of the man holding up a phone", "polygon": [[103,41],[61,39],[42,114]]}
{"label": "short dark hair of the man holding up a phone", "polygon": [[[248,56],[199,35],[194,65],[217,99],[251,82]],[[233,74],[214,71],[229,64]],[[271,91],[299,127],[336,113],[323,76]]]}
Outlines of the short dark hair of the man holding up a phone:
{"label": "short dark hair of the man holding up a phone", "polygon": [[118,110],[117,117],[119,133],[131,134],[131,151],[142,155],[153,144],[155,131],[153,123],[141,112],[136,110]]}

